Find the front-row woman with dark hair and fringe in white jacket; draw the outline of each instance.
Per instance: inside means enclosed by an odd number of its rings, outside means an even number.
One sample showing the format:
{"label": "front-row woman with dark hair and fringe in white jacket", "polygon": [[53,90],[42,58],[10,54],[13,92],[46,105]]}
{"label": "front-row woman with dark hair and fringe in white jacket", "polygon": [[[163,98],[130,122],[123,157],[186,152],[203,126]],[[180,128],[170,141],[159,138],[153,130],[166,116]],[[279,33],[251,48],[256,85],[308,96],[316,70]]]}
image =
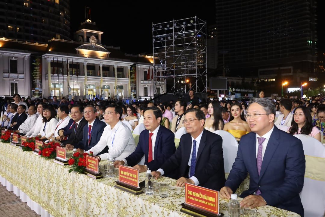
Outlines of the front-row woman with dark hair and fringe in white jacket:
{"label": "front-row woman with dark hair and fringe in white jacket", "polygon": [[52,133],[55,131],[55,128],[58,124],[57,120],[57,112],[51,105],[43,105],[43,124],[41,127],[41,131],[38,133],[38,137],[45,141],[49,138]]}

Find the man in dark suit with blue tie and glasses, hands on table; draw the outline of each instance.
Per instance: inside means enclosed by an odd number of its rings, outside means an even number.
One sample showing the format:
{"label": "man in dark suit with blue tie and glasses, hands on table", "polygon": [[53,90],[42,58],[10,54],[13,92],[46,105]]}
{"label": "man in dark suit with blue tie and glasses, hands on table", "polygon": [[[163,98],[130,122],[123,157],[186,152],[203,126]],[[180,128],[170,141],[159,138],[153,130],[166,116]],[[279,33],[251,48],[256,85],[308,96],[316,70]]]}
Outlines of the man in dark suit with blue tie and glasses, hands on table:
{"label": "man in dark suit with blue tie and glasses, hands on table", "polygon": [[187,134],[179,142],[175,154],[152,175],[158,179],[179,168],[176,186],[185,183],[219,191],[224,186],[225,168],[221,136],[204,129],[205,115],[195,108],[185,112],[184,124]]}

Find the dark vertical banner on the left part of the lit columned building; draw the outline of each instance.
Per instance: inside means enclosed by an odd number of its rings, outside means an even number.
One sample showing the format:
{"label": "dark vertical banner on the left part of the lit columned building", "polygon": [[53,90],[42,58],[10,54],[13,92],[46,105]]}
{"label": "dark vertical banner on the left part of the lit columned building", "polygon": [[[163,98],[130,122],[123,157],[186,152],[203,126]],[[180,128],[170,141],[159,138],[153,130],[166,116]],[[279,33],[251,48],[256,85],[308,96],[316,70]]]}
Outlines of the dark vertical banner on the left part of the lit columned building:
{"label": "dark vertical banner on the left part of the lit columned building", "polygon": [[31,56],[32,97],[42,98],[42,57]]}

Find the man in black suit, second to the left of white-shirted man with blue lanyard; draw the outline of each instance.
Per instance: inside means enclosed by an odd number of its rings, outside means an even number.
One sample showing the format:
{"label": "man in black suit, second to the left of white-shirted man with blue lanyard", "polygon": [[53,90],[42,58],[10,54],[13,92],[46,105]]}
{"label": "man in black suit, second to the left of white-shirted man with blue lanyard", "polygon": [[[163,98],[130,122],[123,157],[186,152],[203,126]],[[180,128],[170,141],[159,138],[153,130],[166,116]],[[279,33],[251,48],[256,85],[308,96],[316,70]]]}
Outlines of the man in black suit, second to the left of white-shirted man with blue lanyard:
{"label": "man in black suit, second to the left of white-shirted man with blue lanyard", "polygon": [[[83,139],[83,128],[88,123],[84,118],[83,112],[84,107],[82,105],[72,106],[70,113],[71,120],[69,124],[64,129],[59,130],[60,138],[62,137],[62,143],[69,150],[73,149],[73,144],[76,144]],[[66,137],[68,138],[64,139]]]}

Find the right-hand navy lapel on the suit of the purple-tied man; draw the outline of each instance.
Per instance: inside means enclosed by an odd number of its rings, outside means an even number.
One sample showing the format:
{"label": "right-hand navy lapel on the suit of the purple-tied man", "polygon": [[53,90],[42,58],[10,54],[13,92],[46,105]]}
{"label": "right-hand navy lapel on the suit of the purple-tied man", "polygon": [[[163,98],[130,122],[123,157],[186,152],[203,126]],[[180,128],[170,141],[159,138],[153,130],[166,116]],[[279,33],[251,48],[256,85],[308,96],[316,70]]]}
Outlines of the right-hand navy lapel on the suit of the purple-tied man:
{"label": "right-hand navy lapel on the suit of the purple-tied man", "polygon": [[[269,165],[270,160],[272,159],[275,150],[279,146],[279,129],[274,126],[273,132],[270,136],[270,139],[267,142],[265,154],[263,156],[262,167],[260,172],[260,178],[263,176],[267,166]],[[256,166],[257,168],[257,166]]]}

